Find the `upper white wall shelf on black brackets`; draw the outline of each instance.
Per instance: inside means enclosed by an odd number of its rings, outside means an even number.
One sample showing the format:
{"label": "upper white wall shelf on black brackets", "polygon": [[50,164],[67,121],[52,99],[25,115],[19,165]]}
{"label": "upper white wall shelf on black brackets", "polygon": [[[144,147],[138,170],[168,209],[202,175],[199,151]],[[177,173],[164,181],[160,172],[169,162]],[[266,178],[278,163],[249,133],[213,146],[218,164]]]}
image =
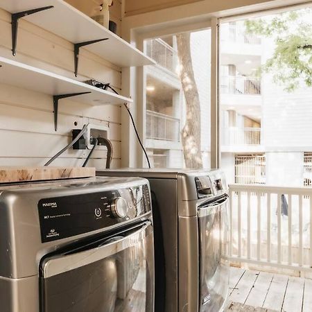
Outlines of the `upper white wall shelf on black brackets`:
{"label": "upper white wall shelf on black brackets", "polygon": [[[103,42],[84,46],[83,49],[87,49],[119,67],[155,64],[151,58],[135,49],[131,44],[62,0],[0,0],[0,8],[10,13],[44,6],[53,6],[54,8],[28,15],[23,19],[73,44],[108,38]],[[17,35],[17,53],[18,48]]]}

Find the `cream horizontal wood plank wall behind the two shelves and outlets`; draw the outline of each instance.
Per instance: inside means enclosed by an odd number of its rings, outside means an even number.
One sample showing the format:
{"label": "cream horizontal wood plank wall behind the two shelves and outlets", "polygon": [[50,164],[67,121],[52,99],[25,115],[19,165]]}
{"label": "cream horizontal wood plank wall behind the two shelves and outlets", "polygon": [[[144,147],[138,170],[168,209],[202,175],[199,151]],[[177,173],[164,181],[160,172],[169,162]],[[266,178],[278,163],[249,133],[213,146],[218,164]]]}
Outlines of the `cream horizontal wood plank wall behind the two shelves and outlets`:
{"label": "cream horizontal wood plank wall behind the two shelves and outlets", "polygon": [[[25,19],[19,21],[17,56],[14,58],[10,14],[1,9],[0,55],[74,78],[73,45]],[[95,78],[121,89],[121,69],[84,49],[80,50],[78,73],[78,80]],[[114,146],[112,167],[117,168],[121,163],[121,109],[114,105],[93,107],[64,99],[60,101],[58,131],[55,132],[51,96],[0,84],[0,166],[42,166],[69,144],[73,128],[81,129],[85,123],[95,123],[110,127]],[[80,166],[88,153],[89,150],[69,150],[52,165]],[[89,166],[105,168],[105,157],[105,150],[97,150]]]}

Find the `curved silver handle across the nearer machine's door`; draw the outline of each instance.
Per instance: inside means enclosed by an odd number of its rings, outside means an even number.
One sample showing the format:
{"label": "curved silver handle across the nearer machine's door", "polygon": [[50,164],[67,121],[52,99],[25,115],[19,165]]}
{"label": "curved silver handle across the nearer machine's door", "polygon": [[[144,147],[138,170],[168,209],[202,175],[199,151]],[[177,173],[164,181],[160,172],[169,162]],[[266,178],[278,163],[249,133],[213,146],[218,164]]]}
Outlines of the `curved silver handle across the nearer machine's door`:
{"label": "curved silver handle across the nearer machine's door", "polygon": [[[110,241],[106,245],[101,245],[97,248],[85,250],[83,252],[77,252],[75,254],[60,255],[48,259],[44,263],[44,278],[52,277],[82,266],[87,266],[90,263],[94,263],[98,260],[105,259],[112,256],[122,250],[137,245],[140,241],[143,241],[146,236],[153,233],[152,223],[149,221],[144,223],[141,229],[136,232],[123,237],[122,239],[116,239],[116,241]],[[116,234],[118,236],[118,234]]]}

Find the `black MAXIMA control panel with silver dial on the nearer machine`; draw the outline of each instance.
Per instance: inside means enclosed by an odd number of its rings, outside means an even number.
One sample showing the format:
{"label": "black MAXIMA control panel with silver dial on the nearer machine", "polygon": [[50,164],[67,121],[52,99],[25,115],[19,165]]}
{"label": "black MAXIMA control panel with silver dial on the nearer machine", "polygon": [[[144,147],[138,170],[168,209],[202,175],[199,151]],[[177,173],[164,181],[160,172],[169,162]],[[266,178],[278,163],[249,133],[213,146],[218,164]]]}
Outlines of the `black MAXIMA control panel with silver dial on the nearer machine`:
{"label": "black MAXIMA control panel with silver dial on the nearer machine", "polygon": [[148,184],[38,202],[42,243],[111,227],[151,211]]}

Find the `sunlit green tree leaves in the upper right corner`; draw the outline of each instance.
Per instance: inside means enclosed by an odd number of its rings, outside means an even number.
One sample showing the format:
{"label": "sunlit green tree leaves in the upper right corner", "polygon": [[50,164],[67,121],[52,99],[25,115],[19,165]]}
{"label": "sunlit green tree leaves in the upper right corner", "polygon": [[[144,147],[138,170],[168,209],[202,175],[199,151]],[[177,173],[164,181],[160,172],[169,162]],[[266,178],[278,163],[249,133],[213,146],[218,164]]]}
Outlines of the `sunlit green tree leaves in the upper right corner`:
{"label": "sunlit green tree leaves in the upper right corner", "polygon": [[248,33],[272,38],[275,50],[260,71],[272,73],[273,80],[293,92],[302,83],[312,87],[312,24],[306,8],[245,21]]}

